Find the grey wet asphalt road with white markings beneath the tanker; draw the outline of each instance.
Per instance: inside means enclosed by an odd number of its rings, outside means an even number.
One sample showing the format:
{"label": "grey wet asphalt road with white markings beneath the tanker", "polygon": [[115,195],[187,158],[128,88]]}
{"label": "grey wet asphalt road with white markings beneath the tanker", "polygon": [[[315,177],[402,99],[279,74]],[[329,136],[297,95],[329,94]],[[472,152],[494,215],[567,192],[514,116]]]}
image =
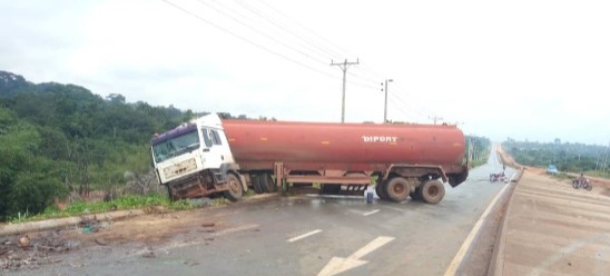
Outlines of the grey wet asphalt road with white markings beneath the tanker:
{"label": "grey wet asphalt road with white markings beneath the tanker", "polygon": [[223,216],[223,230],[206,238],[185,230],[144,250],[135,245],[81,250],[83,264],[62,262],[42,274],[14,275],[443,275],[504,186],[489,181],[500,171],[492,155],[465,183],[446,186],[437,205],[299,196],[197,210],[230,215]]}

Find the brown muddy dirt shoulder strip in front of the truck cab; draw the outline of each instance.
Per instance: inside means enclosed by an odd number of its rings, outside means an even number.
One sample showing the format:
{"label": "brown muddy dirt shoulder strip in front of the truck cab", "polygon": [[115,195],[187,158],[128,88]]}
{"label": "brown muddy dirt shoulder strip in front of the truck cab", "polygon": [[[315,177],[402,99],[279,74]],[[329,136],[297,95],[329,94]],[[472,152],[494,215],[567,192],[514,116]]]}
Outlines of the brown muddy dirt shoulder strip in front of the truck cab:
{"label": "brown muddy dirt shoulder strip in front of the truck cab", "polygon": [[[189,231],[210,235],[223,231],[225,218],[237,208],[276,195],[259,195],[220,207],[170,211],[161,206],[147,207],[137,216],[108,219],[105,214],[32,223],[14,235],[0,236],[0,274],[3,270],[38,268],[62,262],[62,256],[83,250],[104,250],[126,244],[147,248],[180,238]],[[141,215],[145,214],[145,215]],[[38,227],[37,227],[38,225]],[[47,229],[47,225],[52,225]],[[7,225],[4,225],[7,226]]]}

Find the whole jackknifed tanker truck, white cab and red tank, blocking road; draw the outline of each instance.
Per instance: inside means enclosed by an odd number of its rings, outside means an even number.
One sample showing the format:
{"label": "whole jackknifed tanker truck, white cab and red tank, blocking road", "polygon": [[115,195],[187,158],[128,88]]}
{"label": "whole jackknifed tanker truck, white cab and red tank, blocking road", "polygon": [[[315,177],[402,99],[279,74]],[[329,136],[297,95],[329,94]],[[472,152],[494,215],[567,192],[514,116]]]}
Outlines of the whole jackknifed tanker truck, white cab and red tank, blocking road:
{"label": "whole jackknifed tanker truck, white cab and red tank, blocking road", "polygon": [[[439,203],[468,177],[455,126],[194,119],[151,139],[159,183],[174,199],[275,193],[287,184]],[[362,195],[362,194],[361,194]]]}

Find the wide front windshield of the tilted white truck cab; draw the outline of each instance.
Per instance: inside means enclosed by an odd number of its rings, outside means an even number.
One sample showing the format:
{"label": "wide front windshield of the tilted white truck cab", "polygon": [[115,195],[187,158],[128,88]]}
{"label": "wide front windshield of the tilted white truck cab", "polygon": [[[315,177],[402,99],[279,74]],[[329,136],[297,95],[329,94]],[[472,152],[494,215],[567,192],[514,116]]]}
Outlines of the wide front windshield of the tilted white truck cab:
{"label": "wide front windshield of the tilted white truck cab", "polygon": [[155,155],[155,161],[161,162],[171,157],[179,156],[198,148],[199,136],[197,135],[197,129],[194,129],[194,131],[186,132],[181,136],[177,136],[154,145],[152,152]]}

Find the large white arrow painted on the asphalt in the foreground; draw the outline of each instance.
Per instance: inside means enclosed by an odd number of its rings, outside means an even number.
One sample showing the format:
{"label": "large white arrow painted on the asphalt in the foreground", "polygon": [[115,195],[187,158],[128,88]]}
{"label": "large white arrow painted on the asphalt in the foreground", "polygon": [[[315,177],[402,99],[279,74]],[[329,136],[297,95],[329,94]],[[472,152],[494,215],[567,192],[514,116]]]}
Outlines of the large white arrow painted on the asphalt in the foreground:
{"label": "large white arrow painted on the asphalt in the foreground", "polygon": [[333,276],[340,273],[350,270],[352,268],[365,265],[368,260],[361,260],[360,258],[366,256],[373,250],[384,246],[385,244],[394,240],[394,237],[380,236],[373,239],[371,243],[360,248],[347,258],[333,257],[328,264],[317,274],[317,276]]}

